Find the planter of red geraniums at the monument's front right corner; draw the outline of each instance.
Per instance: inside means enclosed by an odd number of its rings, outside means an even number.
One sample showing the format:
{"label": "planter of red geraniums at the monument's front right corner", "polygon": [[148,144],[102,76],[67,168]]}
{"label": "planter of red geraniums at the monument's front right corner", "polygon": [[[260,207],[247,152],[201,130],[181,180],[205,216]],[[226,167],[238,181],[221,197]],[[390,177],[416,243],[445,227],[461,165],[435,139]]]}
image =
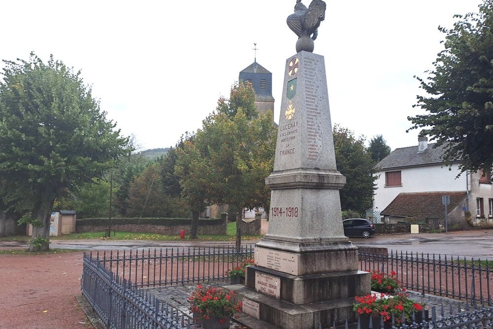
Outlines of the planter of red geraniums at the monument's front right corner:
{"label": "planter of red geraniums at the monument's front right corner", "polygon": [[[355,297],[356,303],[353,304],[353,311],[360,315],[360,325],[362,329],[369,328],[370,316],[373,318],[373,328],[380,328],[384,322],[384,328],[392,325],[392,315],[395,324],[402,324],[402,317],[406,324],[412,324],[413,313],[415,321],[422,322],[424,303],[418,303],[406,294],[399,292],[395,295],[385,293],[369,294],[366,296]],[[427,320],[427,315],[425,315]]]}

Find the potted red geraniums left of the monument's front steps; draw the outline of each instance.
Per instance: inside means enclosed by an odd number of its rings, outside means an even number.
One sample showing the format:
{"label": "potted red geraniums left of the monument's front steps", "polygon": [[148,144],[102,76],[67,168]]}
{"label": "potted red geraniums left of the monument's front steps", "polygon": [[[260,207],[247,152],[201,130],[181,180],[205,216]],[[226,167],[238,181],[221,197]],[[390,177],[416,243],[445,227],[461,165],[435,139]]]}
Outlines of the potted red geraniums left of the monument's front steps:
{"label": "potted red geraniums left of the monument's front steps", "polygon": [[198,285],[189,297],[195,323],[203,329],[229,329],[231,315],[242,310],[242,302],[233,297],[234,292]]}

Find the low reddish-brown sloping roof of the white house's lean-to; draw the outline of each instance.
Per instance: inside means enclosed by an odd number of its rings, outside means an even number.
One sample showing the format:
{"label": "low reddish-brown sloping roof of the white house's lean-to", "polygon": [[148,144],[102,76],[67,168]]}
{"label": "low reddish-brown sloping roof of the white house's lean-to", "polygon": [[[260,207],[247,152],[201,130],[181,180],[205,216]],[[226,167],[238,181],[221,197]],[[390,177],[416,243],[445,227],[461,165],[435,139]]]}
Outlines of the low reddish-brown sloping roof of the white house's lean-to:
{"label": "low reddish-brown sloping roof of the white house's lean-to", "polygon": [[442,196],[450,196],[449,211],[454,210],[465,198],[465,191],[399,193],[382,211],[385,216],[414,217],[418,220],[445,216]]}

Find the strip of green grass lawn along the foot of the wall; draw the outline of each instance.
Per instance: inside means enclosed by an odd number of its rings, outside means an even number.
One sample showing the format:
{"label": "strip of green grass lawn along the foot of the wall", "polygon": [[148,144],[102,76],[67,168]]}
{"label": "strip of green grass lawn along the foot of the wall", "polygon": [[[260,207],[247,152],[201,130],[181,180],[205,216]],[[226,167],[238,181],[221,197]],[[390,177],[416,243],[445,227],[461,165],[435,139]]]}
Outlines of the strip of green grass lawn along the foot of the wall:
{"label": "strip of green grass lawn along the foot of the wall", "polygon": [[[236,222],[228,223],[226,235],[199,235],[199,240],[203,241],[234,241],[236,237]],[[244,235],[242,240],[259,240],[261,235]],[[26,235],[8,236],[0,238],[0,241],[29,241],[31,237]],[[185,239],[180,239],[179,235],[165,235],[156,233],[131,233],[131,232],[116,232],[109,238],[105,238],[105,232],[87,232],[87,233],[72,233],[62,236],[52,236],[50,240],[151,240],[151,241],[187,241],[190,240],[189,235]]]}

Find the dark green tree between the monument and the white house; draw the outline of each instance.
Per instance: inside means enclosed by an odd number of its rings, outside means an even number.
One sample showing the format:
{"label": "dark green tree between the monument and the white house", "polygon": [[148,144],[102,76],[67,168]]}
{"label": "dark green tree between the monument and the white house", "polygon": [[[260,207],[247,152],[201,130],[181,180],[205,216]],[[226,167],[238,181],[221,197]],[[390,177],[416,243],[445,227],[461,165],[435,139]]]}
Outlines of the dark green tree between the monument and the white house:
{"label": "dark green tree between the monument and the white house", "polygon": [[337,170],[346,176],[346,185],[340,192],[341,208],[362,214],[373,203],[376,163],[364,146],[364,137],[354,137],[351,130],[339,125],[334,126],[333,135]]}

